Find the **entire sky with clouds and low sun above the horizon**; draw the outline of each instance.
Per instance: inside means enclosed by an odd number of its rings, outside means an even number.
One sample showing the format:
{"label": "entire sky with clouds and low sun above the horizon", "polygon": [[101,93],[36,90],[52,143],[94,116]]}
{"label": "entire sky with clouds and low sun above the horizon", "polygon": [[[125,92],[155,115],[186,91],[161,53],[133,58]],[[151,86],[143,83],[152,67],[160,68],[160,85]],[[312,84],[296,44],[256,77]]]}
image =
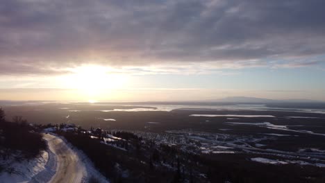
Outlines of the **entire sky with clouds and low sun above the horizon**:
{"label": "entire sky with clouds and low sun above the horizon", "polygon": [[325,101],[323,0],[2,0],[0,100]]}

